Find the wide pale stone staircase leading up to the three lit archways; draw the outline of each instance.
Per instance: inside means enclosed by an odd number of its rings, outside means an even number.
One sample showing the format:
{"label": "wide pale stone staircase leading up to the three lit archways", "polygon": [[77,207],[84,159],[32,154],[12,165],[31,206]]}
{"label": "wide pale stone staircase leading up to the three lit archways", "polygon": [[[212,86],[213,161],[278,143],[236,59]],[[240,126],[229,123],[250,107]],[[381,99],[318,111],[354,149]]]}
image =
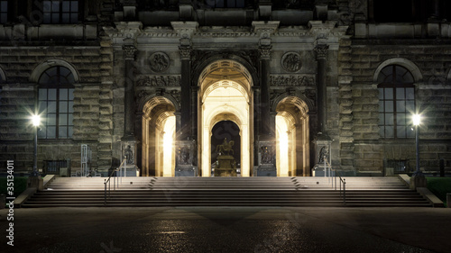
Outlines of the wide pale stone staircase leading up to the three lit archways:
{"label": "wide pale stone staircase leading up to the three lit archways", "polygon": [[58,177],[23,207],[54,206],[431,206],[397,177]]}

